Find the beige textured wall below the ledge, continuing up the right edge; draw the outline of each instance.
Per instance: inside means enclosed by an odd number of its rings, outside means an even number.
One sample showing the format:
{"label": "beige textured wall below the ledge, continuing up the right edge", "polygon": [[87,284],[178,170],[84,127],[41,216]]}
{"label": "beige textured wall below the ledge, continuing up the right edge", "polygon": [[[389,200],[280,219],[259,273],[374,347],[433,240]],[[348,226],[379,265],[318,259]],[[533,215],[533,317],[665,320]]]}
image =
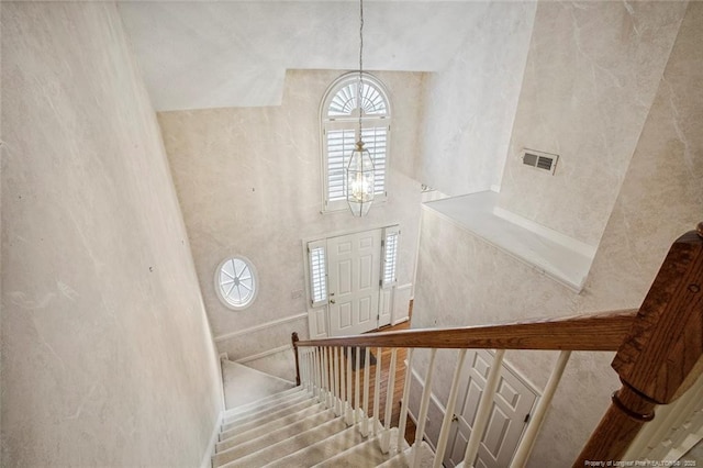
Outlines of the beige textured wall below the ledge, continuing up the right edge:
{"label": "beige textured wall below the ledge, continuing up the right edge", "polygon": [[[684,13],[584,290],[574,294],[424,211],[413,326],[639,307],[671,243],[703,213],[703,4],[691,2]],[[602,188],[591,182],[589,196]],[[620,385],[612,356],[572,355],[528,466],[570,466]],[[539,388],[555,357],[506,356]],[[439,394],[451,378],[440,376]]]}

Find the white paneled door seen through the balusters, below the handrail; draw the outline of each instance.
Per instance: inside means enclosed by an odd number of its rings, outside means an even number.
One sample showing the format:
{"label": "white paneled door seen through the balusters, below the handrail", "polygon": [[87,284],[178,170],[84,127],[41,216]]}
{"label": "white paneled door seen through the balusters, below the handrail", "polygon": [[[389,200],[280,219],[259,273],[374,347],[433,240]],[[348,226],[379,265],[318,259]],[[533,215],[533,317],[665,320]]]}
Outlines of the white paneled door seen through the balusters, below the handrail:
{"label": "white paneled door seen through the balusters, below the handrail", "polygon": [[[457,401],[454,436],[449,439],[453,445],[445,456],[445,466],[448,467],[455,467],[464,459],[493,356],[484,349],[479,349],[472,355],[469,352],[467,360],[471,366],[462,386],[464,399]],[[465,463],[465,466],[476,468],[510,466],[536,398],[535,392],[525,382],[503,366],[476,463],[473,465]]]}

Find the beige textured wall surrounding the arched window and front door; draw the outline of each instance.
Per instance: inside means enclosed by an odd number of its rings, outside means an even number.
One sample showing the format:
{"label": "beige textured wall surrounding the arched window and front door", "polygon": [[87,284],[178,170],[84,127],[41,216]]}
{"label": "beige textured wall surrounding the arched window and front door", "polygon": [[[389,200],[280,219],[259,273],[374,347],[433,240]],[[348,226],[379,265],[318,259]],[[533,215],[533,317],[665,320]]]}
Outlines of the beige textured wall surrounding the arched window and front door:
{"label": "beige textured wall surrounding the arched window and front door", "polygon": [[[281,105],[159,113],[205,307],[215,336],[308,311],[304,239],[400,223],[399,285],[412,282],[420,219],[417,129],[422,74],[376,74],[392,103],[388,201],[368,216],[321,214],[320,103],[342,71],[290,70]],[[260,290],[246,310],[216,297],[214,271],[228,255],[249,258]],[[302,291],[293,298],[295,291]],[[230,359],[308,336],[306,317],[217,342]],[[253,367],[292,379],[292,352]],[[259,366],[260,365],[260,366]]]}

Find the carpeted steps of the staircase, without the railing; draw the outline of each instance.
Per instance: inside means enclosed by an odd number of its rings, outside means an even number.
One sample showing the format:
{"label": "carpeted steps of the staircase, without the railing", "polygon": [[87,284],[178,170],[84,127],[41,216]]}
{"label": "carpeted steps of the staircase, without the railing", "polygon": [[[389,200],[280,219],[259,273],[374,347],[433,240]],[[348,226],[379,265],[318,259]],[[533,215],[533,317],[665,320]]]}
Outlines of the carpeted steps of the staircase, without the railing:
{"label": "carpeted steps of the staircase, without the railing", "polygon": [[[390,431],[342,401],[303,387],[281,391],[224,413],[212,457],[217,467],[408,467],[411,452],[398,428]],[[355,417],[356,416],[356,417]],[[355,422],[356,420],[356,422]],[[365,435],[366,434],[366,435]],[[386,450],[383,450],[386,446]],[[423,444],[420,466],[432,466]]]}

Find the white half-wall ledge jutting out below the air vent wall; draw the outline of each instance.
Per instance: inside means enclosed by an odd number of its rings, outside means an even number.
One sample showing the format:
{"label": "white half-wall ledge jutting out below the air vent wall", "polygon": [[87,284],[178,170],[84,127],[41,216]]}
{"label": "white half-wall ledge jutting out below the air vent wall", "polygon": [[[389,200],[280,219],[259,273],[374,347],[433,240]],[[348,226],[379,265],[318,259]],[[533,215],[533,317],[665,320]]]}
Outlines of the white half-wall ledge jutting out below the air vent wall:
{"label": "white half-wall ledge jutting out below the air vent wall", "polygon": [[423,204],[545,276],[581,292],[596,248],[496,207],[483,191]]}

